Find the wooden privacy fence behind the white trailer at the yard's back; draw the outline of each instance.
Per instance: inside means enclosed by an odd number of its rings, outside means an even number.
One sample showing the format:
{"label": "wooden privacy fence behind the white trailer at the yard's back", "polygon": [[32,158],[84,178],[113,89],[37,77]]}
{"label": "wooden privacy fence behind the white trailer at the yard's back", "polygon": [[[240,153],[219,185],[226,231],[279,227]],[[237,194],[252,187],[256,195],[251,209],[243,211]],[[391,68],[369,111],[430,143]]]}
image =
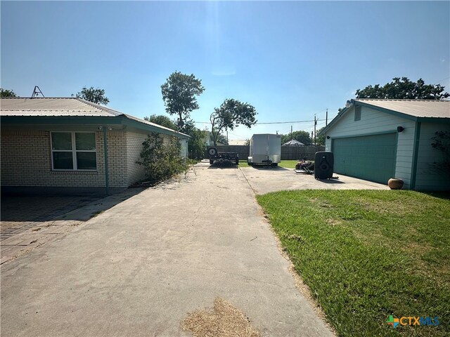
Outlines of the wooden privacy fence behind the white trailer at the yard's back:
{"label": "wooden privacy fence behind the white trailer at the yard's back", "polygon": [[[219,152],[237,152],[239,159],[245,160],[249,155],[248,145],[218,145]],[[306,159],[314,159],[314,154],[318,151],[325,151],[323,146],[282,146],[281,160],[297,160],[306,157]],[[207,153],[205,158],[207,158]]]}

